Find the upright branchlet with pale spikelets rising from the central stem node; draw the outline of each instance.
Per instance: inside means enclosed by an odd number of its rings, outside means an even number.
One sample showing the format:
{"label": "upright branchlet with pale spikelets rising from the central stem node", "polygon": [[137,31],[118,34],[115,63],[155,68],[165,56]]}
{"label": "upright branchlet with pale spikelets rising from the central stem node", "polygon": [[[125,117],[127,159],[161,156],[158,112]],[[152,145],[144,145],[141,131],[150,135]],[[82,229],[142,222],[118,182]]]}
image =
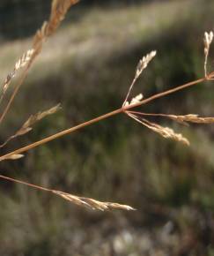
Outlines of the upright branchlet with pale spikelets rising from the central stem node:
{"label": "upright branchlet with pale spikelets rising from the central stem node", "polygon": [[133,79],[133,81],[129,87],[128,94],[126,95],[126,98],[125,98],[124,102],[122,103],[122,107],[127,106],[127,100],[129,98],[129,94],[130,94],[132,88],[134,87],[134,85],[135,85],[137,79],[139,78],[139,76],[141,75],[141,73],[144,71],[144,69],[147,67],[147,65],[151,62],[152,58],[154,56],[156,56],[156,53],[157,53],[156,50],[152,50],[149,54],[147,54],[146,56],[143,56],[143,58],[137,64],[135,78]]}

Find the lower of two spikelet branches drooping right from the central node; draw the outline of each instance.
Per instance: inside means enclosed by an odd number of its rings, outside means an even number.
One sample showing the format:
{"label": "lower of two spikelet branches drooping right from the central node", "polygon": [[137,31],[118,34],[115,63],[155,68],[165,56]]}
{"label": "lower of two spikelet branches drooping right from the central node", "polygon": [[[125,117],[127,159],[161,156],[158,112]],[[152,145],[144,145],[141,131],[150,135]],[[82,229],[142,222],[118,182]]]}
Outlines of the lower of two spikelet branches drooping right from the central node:
{"label": "lower of two spikelet branches drooping right from the central node", "polygon": [[135,119],[138,123],[143,124],[147,128],[151,129],[153,132],[159,133],[162,137],[166,139],[173,139],[175,141],[181,142],[187,146],[189,146],[189,141],[181,133],[176,133],[173,131],[173,129],[169,127],[163,127],[159,124],[151,123],[148,120],[144,118],[137,117],[136,115],[133,115],[129,112],[126,112],[129,117],[132,117]]}

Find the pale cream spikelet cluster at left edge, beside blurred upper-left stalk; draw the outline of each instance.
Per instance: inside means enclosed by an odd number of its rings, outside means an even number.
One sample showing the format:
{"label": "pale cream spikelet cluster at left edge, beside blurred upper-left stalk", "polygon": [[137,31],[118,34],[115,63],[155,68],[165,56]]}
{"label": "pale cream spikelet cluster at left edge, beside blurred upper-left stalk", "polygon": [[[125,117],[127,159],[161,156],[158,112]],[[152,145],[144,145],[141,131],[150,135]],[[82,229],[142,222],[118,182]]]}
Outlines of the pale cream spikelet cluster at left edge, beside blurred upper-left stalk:
{"label": "pale cream spikelet cluster at left edge, beside blurred upper-left stalk", "polygon": [[16,76],[18,70],[25,67],[26,64],[29,64],[29,62],[31,61],[31,58],[33,56],[33,53],[34,53],[33,49],[27,50],[26,53],[18,59],[13,71],[10,74],[8,74],[6,79],[4,79],[4,83],[2,85],[3,93],[0,97],[0,102],[2,101],[4,94],[6,93],[8,87],[11,84],[11,80]]}

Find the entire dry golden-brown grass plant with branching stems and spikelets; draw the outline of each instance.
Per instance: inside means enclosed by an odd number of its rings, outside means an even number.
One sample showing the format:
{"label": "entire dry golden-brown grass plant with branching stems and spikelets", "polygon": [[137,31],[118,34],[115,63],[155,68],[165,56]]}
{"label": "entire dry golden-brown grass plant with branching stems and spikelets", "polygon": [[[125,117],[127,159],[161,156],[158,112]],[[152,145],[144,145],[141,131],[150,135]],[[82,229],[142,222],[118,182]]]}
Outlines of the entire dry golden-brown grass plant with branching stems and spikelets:
{"label": "entire dry golden-brown grass plant with branching stems and spikelets", "polygon": [[[9,102],[7,102],[5,109],[3,110],[2,115],[0,116],[0,124],[4,121],[4,118],[6,117],[9,109],[11,108],[11,103],[13,102],[16,94],[18,93],[19,88],[23,84],[24,80],[26,79],[27,73],[29,69],[31,68],[35,58],[41,53],[42,45],[45,41],[47,41],[48,37],[55,33],[56,28],[60,25],[61,21],[64,19],[66,12],[69,10],[70,6],[73,4],[77,4],[79,0],[53,0],[52,2],[52,8],[50,13],[50,18],[48,21],[44,22],[44,24],[41,26],[41,29],[37,31],[33,38],[33,46],[32,49],[29,49],[26,51],[26,53],[20,57],[18,62],[15,64],[15,67],[13,71],[7,76],[7,78],[4,80],[3,86],[2,86],[2,94],[0,96],[0,103],[4,100],[4,95],[7,92],[8,87],[11,84],[11,80],[14,78],[14,76],[17,74],[17,72],[20,69],[24,69],[23,72],[20,75],[20,79],[18,80],[18,83],[13,88],[13,92],[11,94],[11,98],[9,99]],[[207,64],[208,64],[208,57],[209,57],[209,51],[210,51],[210,44],[213,41],[213,33],[207,33],[204,34],[204,77],[201,79],[196,79],[194,81],[188,82],[184,85],[181,85],[179,87],[173,87],[172,89],[169,89],[165,92],[151,95],[148,98],[144,99],[143,94],[138,94],[136,97],[129,100],[129,95],[132,91],[132,88],[135,86],[137,79],[141,76],[142,72],[144,72],[144,69],[147,67],[147,65],[151,62],[151,60],[156,56],[156,51],[153,50],[151,53],[144,56],[139,63],[137,64],[137,70],[135,72],[134,79],[132,80],[128,94],[126,94],[125,100],[122,103],[122,107],[119,109],[115,109],[114,111],[111,111],[103,116],[93,118],[92,120],[89,120],[83,124],[78,124],[77,126],[70,127],[69,129],[63,130],[62,132],[57,132],[54,135],[51,135],[47,138],[41,139],[39,141],[36,141],[30,145],[27,145],[26,147],[18,148],[8,154],[4,154],[0,156],[0,161],[5,160],[17,160],[24,156],[23,153],[29,151],[30,149],[33,149],[34,147],[39,147],[45,143],[48,143],[48,141],[51,141],[53,139],[58,139],[66,134],[69,134],[71,132],[75,132],[85,126],[100,122],[103,119],[106,119],[108,117],[113,117],[118,114],[125,114],[128,117],[131,117],[135,121],[137,121],[140,124],[143,124],[145,127],[149,128],[153,132],[159,133],[162,137],[166,139],[173,139],[175,141],[181,142],[185,145],[189,145],[188,139],[186,139],[181,133],[174,132],[172,128],[169,127],[163,127],[160,124],[152,123],[145,117],[166,117],[171,119],[172,121],[178,122],[180,124],[189,124],[189,123],[196,123],[196,124],[212,124],[214,123],[214,117],[199,117],[196,114],[188,114],[188,115],[166,115],[166,114],[152,114],[152,113],[143,113],[139,111],[133,111],[132,109],[142,106],[144,104],[147,104],[149,102],[152,102],[156,99],[159,99],[161,97],[164,97],[168,94],[176,93],[177,91],[183,90],[187,87],[193,87],[198,85],[199,83],[202,83],[204,81],[209,81],[214,79],[214,72],[207,72]],[[22,136],[26,134],[27,132],[32,131],[33,124],[40,121],[43,117],[47,117],[48,115],[54,114],[58,109],[60,109],[60,105],[55,106],[52,109],[48,109],[43,112],[39,112],[35,115],[32,115],[29,117],[25,124],[23,124],[19,129],[18,132],[16,132],[14,135],[12,135],[9,139],[6,139],[4,144],[0,147],[4,147],[9,141],[12,139],[17,138],[18,136]],[[44,192],[51,192],[55,195],[63,198],[64,200],[68,200],[78,206],[81,207],[89,207],[91,209],[96,210],[110,210],[110,209],[122,209],[122,210],[134,210],[133,207],[129,207],[126,205],[121,205],[117,203],[110,203],[110,202],[100,202],[98,200],[93,200],[89,198],[84,197],[78,197],[76,195],[72,195],[67,192],[60,192],[53,189],[48,189],[45,187],[41,187],[39,185],[35,184],[29,184],[24,181],[14,179],[11,177],[6,177],[3,175],[0,175],[0,178],[6,179],[8,181],[11,181],[13,183],[18,184],[25,184],[29,187],[32,187],[37,190],[41,190]]]}

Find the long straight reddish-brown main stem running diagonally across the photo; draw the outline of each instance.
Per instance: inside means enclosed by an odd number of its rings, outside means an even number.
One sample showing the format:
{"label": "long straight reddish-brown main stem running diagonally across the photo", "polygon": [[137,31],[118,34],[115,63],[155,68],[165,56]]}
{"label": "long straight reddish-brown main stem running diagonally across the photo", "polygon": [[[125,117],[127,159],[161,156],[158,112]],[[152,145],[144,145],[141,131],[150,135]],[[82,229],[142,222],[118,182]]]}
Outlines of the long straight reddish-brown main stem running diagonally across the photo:
{"label": "long straight reddish-brown main stem running diagonally across the photo", "polygon": [[159,99],[161,97],[164,97],[168,94],[173,94],[177,91],[180,91],[184,88],[187,88],[187,87],[192,87],[192,86],[195,86],[199,83],[202,83],[203,81],[205,81],[206,78],[203,78],[203,79],[197,79],[195,81],[192,81],[192,82],[188,82],[187,84],[184,84],[182,86],[179,86],[179,87],[174,87],[173,89],[169,89],[169,90],[166,90],[165,92],[162,92],[162,93],[159,93],[159,94],[154,94],[152,95],[151,97],[147,98],[147,99],[144,99],[143,101],[141,102],[137,102],[135,104],[131,104],[129,106],[126,106],[126,107],[123,107],[123,108],[120,108],[120,109],[115,109],[114,111],[112,112],[109,112],[105,115],[102,115],[100,117],[96,117],[96,118],[93,118],[92,120],[90,121],[87,121],[83,124],[78,124],[74,127],[71,127],[70,129],[66,129],[66,130],[63,130],[62,132],[57,132],[55,133],[54,135],[51,135],[45,139],[41,139],[39,141],[36,141],[26,147],[21,147],[21,148],[18,148],[14,151],[12,151],[11,153],[8,153],[8,154],[4,154],[3,156],[0,157],[0,161],[3,161],[5,158],[8,158],[10,157],[12,154],[21,154],[21,153],[24,153],[30,149],[33,149],[34,147],[39,147],[45,143],[47,143],[48,141],[51,141],[51,140],[54,140],[54,139],[58,139],[66,134],[69,134],[71,132],[76,132],[77,130],[81,129],[81,128],[84,128],[85,126],[88,126],[88,125],[91,125],[91,124],[94,124],[94,123],[97,123],[97,122],[100,122],[101,120],[103,119],[106,119],[108,117],[113,117],[114,115],[117,115],[117,114],[120,114],[122,112],[126,112],[127,110],[129,109],[133,109],[133,108],[136,108],[136,107],[139,107],[143,104],[146,104],[148,102],[152,102],[156,99]]}

